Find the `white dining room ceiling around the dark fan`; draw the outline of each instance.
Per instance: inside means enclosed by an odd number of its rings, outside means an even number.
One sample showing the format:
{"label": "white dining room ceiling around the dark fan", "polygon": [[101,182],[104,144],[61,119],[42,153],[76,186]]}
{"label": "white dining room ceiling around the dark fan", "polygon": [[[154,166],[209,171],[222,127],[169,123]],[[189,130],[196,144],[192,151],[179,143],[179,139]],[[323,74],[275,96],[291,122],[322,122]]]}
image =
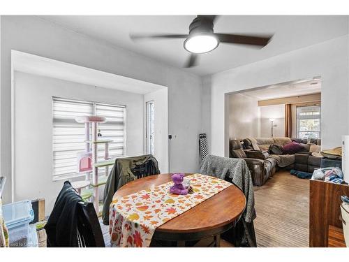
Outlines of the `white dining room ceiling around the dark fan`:
{"label": "white dining room ceiling around the dark fan", "polygon": [[[188,59],[188,52],[183,48],[184,40],[161,39],[133,42],[129,34],[188,34],[188,26],[195,15],[45,15],[40,17],[81,34],[181,68]],[[348,34],[348,16],[223,15],[216,20],[214,31],[236,34],[272,33],[274,38],[261,50],[242,45],[221,44],[212,52],[200,54],[198,66],[184,68],[184,70],[198,75],[207,75],[343,36]]]}

